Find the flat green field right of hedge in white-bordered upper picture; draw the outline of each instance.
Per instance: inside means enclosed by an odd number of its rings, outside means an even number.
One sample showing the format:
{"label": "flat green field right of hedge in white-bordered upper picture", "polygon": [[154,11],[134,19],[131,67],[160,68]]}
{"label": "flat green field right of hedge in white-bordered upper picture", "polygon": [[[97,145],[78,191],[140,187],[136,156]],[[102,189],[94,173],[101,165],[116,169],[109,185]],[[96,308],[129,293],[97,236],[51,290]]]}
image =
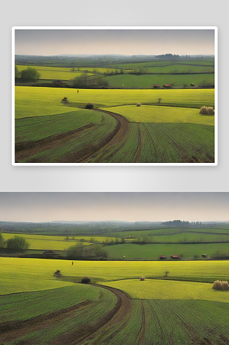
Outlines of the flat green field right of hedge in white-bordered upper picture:
{"label": "flat green field right of hedge in white-bordered upper picture", "polygon": [[173,87],[183,88],[195,83],[197,86],[214,85],[214,74],[203,75],[113,75],[105,77],[109,86],[113,88],[152,88],[154,84],[170,83]]}

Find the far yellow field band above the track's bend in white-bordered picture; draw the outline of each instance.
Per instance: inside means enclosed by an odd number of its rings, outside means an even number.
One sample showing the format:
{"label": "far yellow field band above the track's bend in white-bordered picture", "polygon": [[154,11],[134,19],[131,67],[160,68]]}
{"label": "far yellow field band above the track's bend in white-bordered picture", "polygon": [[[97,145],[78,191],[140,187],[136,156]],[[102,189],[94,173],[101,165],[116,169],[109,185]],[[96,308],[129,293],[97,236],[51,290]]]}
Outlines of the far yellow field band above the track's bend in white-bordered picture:
{"label": "far yellow field band above the track's bend in white-bordered picture", "polygon": [[[16,118],[52,115],[74,111],[74,108],[61,104],[63,97],[67,97],[70,105],[84,106],[89,101],[97,107],[121,106],[126,104],[157,103],[160,97],[163,104],[171,106],[186,106],[201,108],[214,106],[215,90],[84,90],[77,93],[75,89],[36,88],[30,86],[16,86]],[[52,110],[52,108],[54,108]],[[48,112],[50,109],[50,112]],[[51,112],[52,110],[52,112]]]}

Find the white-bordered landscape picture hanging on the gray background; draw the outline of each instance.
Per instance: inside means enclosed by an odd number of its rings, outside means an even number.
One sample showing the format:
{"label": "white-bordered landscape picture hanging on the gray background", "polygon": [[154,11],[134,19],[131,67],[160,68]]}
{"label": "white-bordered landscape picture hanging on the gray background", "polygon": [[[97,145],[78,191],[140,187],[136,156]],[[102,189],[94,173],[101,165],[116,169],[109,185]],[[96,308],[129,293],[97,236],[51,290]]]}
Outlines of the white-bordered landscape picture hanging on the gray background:
{"label": "white-bordered landscape picture hanging on the gray background", "polygon": [[12,164],[217,165],[217,28],[12,28]]}

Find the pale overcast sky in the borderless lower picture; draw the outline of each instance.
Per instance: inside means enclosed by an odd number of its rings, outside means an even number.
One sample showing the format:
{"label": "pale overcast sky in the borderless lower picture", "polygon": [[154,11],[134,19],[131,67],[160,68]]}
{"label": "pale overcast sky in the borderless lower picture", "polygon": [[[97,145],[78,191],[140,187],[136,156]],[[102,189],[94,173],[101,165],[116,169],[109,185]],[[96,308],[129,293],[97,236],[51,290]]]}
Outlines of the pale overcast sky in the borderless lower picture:
{"label": "pale overcast sky in the borderless lower picture", "polygon": [[229,221],[229,193],[0,193],[0,221]]}

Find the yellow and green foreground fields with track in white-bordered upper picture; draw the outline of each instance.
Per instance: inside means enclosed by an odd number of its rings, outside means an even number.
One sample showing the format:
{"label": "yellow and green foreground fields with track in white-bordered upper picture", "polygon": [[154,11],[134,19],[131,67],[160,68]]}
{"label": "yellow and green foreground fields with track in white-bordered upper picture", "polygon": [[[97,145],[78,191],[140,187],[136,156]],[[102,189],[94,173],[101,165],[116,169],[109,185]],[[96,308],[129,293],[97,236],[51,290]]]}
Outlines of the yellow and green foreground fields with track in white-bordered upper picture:
{"label": "yellow and green foreground fields with track in white-bordered upper picture", "polygon": [[[214,107],[214,99],[212,89],[77,92],[17,86],[15,161],[212,163],[215,119],[200,115],[199,108]],[[88,101],[97,111],[83,109]]]}

